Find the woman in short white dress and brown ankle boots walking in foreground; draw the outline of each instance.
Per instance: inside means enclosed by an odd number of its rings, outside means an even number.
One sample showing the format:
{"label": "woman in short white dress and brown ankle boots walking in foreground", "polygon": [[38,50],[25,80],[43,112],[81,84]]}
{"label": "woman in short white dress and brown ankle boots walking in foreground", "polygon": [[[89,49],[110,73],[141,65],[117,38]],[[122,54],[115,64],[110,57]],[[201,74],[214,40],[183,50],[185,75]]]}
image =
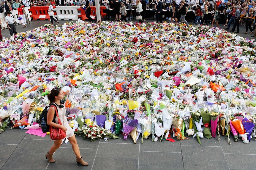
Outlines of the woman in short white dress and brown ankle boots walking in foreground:
{"label": "woman in short white dress and brown ankle boots walking in foreground", "polygon": [[[72,128],[69,126],[67,117],[66,117],[66,109],[65,107],[61,104],[61,100],[64,97],[64,93],[61,90],[61,88],[55,87],[51,90],[51,92],[48,94],[48,100],[50,103],[53,103],[56,105],[58,116],[56,115],[55,121],[54,115],[55,115],[55,108],[54,107],[48,107],[48,113],[47,113],[47,124],[50,126],[50,129],[52,127],[54,128],[60,128],[64,132],[66,132],[66,138],[69,140],[70,144],[72,145],[72,149],[76,155],[76,162],[78,164],[81,164],[82,166],[87,166],[88,163],[83,161],[83,158],[81,157],[80,150],[77,144],[77,140],[75,138],[75,134],[72,130]],[[54,122],[53,122],[54,121]],[[55,123],[55,122],[61,122]],[[51,130],[50,130],[51,133]],[[50,147],[50,150],[46,153],[45,158],[48,159],[50,163],[56,162],[53,159],[53,153],[61,146],[62,139],[60,140],[54,140],[53,145]]]}

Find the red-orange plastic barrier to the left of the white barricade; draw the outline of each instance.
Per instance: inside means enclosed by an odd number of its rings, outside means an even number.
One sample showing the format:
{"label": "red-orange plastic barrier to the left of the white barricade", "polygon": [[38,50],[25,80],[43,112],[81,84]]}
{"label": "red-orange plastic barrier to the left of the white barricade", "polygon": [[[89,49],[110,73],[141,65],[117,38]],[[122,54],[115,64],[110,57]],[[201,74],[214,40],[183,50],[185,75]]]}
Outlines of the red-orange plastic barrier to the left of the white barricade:
{"label": "red-orange plastic barrier to the left of the white barricade", "polygon": [[[53,6],[53,8],[56,8]],[[29,11],[31,12],[31,16],[33,20],[50,20],[50,16],[48,14],[48,6],[43,7],[30,7]],[[56,12],[54,12],[56,15]]]}

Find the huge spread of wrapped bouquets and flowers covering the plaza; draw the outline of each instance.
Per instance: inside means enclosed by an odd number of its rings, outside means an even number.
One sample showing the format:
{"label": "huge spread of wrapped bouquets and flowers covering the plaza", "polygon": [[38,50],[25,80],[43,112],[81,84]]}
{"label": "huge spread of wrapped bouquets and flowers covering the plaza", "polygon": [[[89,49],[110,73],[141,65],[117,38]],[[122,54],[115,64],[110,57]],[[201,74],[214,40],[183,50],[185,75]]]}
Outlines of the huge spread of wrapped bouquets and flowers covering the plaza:
{"label": "huge spread of wrapped bouquets and flowers covering the plaza", "polygon": [[58,86],[70,126],[92,141],[255,137],[255,42],[222,29],[79,20],[0,47],[1,131],[40,128]]}

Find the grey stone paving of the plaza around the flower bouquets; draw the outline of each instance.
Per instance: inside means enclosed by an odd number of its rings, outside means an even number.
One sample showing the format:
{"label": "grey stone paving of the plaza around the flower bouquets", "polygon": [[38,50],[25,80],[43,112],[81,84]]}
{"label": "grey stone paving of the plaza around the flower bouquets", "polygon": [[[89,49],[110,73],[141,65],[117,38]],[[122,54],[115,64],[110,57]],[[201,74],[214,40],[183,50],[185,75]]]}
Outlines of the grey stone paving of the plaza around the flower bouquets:
{"label": "grey stone paving of the plaza around the flower bouquets", "polygon": [[[135,21],[135,20],[132,20]],[[147,20],[152,22],[154,20]],[[63,24],[68,21],[60,21]],[[168,21],[169,22],[169,21]],[[17,25],[17,32],[31,30],[35,27],[50,23],[50,21],[31,21],[28,27]],[[189,22],[191,23],[191,22]],[[54,23],[56,24],[56,22]],[[232,24],[233,25],[233,24]],[[232,26],[231,25],[231,26]],[[219,25],[223,27],[223,24]],[[245,26],[240,27],[239,35],[252,39],[250,34],[243,34]],[[10,37],[8,29],[2,31],[3,37]],[[76,136],[80,152],[89,166],[76,163],[75,154],[70,143],[62,144],[54,153],[56,163],[49,163],[45,154],[53,141],[49,135],[39,137],[26,134],[24,129],[6,129],[0,134],[0,169],[1,170],[255,170],[256,141],[244,144],[240,139],[228,145],[227,137],[202,138],[200,145],[196,138],[152,142],[140,138],[137,144],[128,137],[123,139],[83,140]],[[122,135],[119,137],[123,138]]]}

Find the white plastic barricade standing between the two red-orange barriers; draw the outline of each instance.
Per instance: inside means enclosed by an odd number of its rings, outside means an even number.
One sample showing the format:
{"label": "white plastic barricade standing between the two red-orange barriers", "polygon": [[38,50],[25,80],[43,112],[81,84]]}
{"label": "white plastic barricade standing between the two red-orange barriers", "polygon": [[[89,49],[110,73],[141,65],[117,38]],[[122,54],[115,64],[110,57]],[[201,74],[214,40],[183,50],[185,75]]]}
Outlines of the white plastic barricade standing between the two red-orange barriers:
{"label": "white plastic barricade standing between the two red-orange barriers", "polygon": [[56,6],[54,11],[56,11],[56,15],[54,15],[58,20],[78,20],[78,12],[80,6]]}

